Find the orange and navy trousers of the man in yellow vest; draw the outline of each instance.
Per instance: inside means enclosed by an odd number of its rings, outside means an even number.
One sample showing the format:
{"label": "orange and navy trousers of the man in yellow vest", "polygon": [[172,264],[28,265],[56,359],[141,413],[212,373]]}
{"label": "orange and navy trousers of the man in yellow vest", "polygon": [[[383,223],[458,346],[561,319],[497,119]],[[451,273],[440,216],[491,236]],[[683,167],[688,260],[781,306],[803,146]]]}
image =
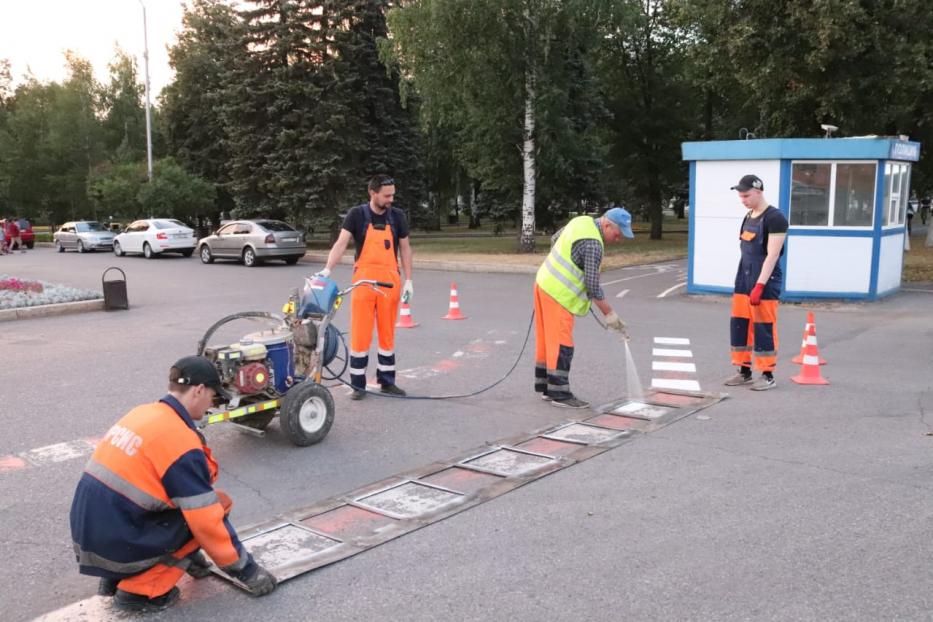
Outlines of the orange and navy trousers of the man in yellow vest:
{"label": "orange and navy trousers of the man in yellow vest", "polygon": [[555,399],[573,397],[574,315],[535,283],[535,391]]}

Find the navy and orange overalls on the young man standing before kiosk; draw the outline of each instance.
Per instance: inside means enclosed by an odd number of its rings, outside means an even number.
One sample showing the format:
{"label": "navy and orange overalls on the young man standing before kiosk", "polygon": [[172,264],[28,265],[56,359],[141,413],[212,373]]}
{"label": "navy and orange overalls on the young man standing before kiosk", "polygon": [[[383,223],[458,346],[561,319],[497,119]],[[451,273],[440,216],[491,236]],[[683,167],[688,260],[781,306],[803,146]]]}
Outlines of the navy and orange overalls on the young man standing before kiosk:
{"label": "navy and orange overalls on the young man standing before kiosk", "polygon": [[783,277],[780,264],[775,264],[771,277],[765,283],[761,304],[753,307],[749,294],[758,282],[768,249],[764,239],[764,218],[773,206],[758,218],[745,217],[739,236],[742,257],[735,275],[735,293],[732,295],[730,340],[732,364],[752,367],[758,371],[774,371],[777,365],[777,308]]}

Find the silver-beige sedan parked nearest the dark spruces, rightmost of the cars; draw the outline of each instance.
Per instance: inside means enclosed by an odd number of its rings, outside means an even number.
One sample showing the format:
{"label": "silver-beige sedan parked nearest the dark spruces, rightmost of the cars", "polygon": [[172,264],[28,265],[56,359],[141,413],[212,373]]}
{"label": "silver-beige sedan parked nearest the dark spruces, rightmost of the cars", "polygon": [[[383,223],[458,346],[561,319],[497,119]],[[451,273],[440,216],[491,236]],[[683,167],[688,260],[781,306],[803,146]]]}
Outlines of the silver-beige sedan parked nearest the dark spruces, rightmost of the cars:
{"label": "silver-beige sedan parked nearest the dark spruces, rightmost of the cars", "polygon": [[281,220],[234,220],[198,241],[202,262],[237,259],[247,267],[267,259],[282,259],[292,265],[306,251],[304,234]]}

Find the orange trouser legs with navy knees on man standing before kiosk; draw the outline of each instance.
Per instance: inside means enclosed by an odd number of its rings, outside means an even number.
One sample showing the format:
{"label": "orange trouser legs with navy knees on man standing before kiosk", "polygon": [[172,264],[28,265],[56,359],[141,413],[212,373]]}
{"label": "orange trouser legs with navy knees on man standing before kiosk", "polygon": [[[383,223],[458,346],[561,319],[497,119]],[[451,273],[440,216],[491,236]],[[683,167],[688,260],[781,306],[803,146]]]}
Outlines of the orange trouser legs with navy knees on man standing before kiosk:
{"label": "orange trouser legs with navy knees on man standing before kiosk", "polygon": [[777,300],[752,306],[748,294],[732,295],[729,321],[732,364],[773,372],[777,366]]}

